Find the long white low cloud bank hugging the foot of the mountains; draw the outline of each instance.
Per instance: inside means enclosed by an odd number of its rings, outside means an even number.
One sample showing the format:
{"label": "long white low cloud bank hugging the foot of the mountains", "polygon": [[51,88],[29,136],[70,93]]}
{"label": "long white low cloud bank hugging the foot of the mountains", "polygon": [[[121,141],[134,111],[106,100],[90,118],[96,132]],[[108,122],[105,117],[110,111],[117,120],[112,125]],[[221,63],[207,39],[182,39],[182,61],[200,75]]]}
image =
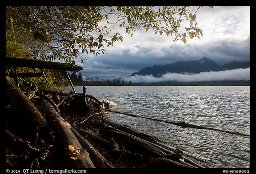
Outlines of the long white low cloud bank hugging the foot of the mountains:
{"label": "long white low cloud bank hugging the foot of the mountains", "polygon": [[193,82],[193,81],[248,81],[251,79],[251,67],[246,69],[210,71],[198,74],[180,74],[166,73],[162,77],[153,77],[153,75],[136,75],[125,78],[124,81],[135,83],[158,83],[164,81]]}

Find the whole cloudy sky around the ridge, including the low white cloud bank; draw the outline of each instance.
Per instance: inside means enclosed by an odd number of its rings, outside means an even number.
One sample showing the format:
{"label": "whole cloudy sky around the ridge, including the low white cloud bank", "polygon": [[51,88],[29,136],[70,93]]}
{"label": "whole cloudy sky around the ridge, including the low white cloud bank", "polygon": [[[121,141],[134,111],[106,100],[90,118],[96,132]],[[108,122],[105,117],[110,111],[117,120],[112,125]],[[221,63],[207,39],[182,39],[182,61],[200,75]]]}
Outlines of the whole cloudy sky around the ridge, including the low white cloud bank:
{"label": "whole cloudy sky around the ridge, including the low white cloud bank", "polygon": [[[197,8],[197,6],[195,7]],[[208,6],[202,7],[196,13],[198,26],[204,31],[200,39],[187,38],[187,44],[182,41],[173,42],[173,36],[155,35],[151,30],[146,32],[136,30],[130,37],[125,28],[116,26],[114,32],[124,37],[123,42],[115,42],[114,46],[105,46],[105,54],[82,54],[87,58],[80,71],[83,79],[100,77],[112,80],[122,77],[133,82],[153,82],[171,79],[226,80],[250,79],[250,68],[225,72],[209,72],[195,75],[166,74],[162,78],[130,77],[134,72],[147,66],[165,65],[178,61],[199,60],[204,56],[219,65],[233,61],[250,60],[250,6]],[[185,26],[188,27],[188,26]],[[78,61],[77,61],[78,62]],[[221,74],[224,75],[221,75]],[[221,77],[218,79],[216,77]]]}

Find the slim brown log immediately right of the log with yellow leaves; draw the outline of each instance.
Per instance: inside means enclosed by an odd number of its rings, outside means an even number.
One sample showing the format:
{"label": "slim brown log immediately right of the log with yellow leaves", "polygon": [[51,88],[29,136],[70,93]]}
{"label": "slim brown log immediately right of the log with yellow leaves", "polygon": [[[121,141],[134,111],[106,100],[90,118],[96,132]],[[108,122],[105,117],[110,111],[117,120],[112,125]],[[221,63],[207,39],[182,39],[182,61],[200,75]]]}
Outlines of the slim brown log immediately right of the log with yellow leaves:
{"label": "slim brown log immediately right of the log with yellow leaves", "polygon": [[72,132],[78,139],[79,143],[88,151],[91,156],[92,162],[97,166],[97,168],[113,168],[111,164],[88,142],[85,137],[80,135],[74,128],[71,127]]}

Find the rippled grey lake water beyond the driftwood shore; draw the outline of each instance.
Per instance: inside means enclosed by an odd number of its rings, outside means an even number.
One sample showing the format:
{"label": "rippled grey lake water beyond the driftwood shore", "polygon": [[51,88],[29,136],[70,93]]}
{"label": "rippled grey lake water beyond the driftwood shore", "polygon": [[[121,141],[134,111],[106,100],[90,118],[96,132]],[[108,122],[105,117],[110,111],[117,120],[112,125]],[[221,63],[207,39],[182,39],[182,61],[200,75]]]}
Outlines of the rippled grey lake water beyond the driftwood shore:
{"label": "rippled grey lake water beyond the driftwood shore", "polygon": [[[185,121],[250,135],[250,86],[87,86],[87,93],[117,105],[113,111],[149,118]],[[82,87],[75,87],[82,93]],[[71,87],[65,90],[72,90]],[[128,124],[208,160],[211,168],[250,168],[250,137],[117,113]]]}

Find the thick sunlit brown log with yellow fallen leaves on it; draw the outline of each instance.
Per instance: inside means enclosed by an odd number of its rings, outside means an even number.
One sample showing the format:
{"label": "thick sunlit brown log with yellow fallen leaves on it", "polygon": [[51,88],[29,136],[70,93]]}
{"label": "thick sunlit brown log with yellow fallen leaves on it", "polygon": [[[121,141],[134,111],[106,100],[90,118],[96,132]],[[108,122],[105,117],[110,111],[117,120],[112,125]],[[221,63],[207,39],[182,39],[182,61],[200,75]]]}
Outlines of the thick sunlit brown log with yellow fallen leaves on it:
{"label": "thick sunlit brown log with yellow fallen leaves on it", "polygon": [[70,166],[73,168],[96,168],[88,152],[83,149],[76,139],[76,136],[71,131],[71,125],[55,111],[48,101],[42,100],[41,104],[43,112],[62,142],[61,144],[66,151]]}

